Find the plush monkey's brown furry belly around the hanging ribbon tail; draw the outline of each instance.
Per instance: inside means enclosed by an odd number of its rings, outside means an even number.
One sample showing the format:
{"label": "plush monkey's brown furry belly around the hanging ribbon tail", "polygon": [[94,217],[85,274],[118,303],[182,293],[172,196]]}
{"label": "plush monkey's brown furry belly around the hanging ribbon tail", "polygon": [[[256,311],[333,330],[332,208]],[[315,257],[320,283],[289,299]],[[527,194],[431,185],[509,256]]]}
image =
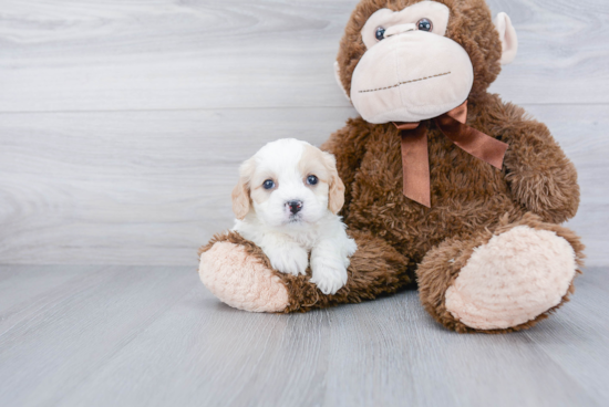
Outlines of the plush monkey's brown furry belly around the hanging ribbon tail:
{"label": "plush monkey's brown furry belly around the hanging ribbon tail", "polygon": [[368,143],[345,219],[349,228],[371,231],[413,262],[446,238],[465,238],[496,225],[505,213],[510,220],[525,213],[503,171],[463,152],[437,129],[427,135],[432,208],[402,194],[400,134],[384,126]]}

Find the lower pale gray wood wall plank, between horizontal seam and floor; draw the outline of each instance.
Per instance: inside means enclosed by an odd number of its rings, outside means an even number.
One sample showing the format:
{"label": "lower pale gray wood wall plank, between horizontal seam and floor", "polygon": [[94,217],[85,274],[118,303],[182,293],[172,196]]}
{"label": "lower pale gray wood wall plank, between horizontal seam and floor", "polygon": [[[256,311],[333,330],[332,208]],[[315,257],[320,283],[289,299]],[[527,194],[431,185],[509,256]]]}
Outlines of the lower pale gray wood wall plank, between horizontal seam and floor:
{"label": "lower pale gray wood wall plank, between horizontal seam and floor", "polygon": [[[609,244],[607,106],[529,106],[579,170],[570,226],[588,264]],[[0,262],[189,264],[233,225],[239,163],[264,143],[322,143],[350,108],[0,115]]]}

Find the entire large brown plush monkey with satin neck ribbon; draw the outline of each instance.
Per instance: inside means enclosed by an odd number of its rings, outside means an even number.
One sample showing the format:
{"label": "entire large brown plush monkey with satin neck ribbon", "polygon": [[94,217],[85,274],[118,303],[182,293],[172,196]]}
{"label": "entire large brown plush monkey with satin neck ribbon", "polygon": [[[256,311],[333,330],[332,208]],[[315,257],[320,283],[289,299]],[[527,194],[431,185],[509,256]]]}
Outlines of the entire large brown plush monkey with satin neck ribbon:
{"label": "entire large brown plush monkey with satin neck ribbon", "polygon": [[358,243],[347,285],[324,295],[234,232],[202,248],[203,282],[246,311],[308,311],[417,285],[427,312],[457,332],[546,317],[584,258],[559,226],[575,216],[579,187],[547,127],[487,93],[516,48],[509,18],[493,23],[484,0],[362,0],[336,66],[362,117],[322,146],[337,157]]}

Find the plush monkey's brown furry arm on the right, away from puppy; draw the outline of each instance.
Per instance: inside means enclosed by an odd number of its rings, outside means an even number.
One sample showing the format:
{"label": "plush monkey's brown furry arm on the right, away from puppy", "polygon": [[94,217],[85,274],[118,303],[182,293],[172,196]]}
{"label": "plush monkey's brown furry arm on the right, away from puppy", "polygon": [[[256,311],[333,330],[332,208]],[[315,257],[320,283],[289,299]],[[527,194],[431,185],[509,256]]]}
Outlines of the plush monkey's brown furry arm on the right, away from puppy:
{"label": "plush monkey's brown furry arm on the right, away from puppy", "polygon": [[[497,97],[498,100],[498,97]],[[506,179],[514,198],[544,220],[561,223],[579,206],[579,186],[574,164],[549,129],[529,119],[523,108],[502,104],[491,134],[509,144],[505,155]]]}

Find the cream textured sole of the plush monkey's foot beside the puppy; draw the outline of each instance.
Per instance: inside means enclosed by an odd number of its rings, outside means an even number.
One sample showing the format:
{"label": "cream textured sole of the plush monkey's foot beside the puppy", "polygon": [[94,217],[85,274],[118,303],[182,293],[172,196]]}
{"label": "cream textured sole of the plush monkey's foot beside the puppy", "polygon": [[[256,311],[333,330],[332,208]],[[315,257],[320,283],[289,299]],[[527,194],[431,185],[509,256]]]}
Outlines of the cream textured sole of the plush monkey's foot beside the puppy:
{"label": "cream textured sole of the plush monkey's foot beside the puppy", "polygon": [[221,302],[250,312],[281,312],[289,303],[288,290],[264,262],[246,248],[215,242],[200,255],[199,276]]}

